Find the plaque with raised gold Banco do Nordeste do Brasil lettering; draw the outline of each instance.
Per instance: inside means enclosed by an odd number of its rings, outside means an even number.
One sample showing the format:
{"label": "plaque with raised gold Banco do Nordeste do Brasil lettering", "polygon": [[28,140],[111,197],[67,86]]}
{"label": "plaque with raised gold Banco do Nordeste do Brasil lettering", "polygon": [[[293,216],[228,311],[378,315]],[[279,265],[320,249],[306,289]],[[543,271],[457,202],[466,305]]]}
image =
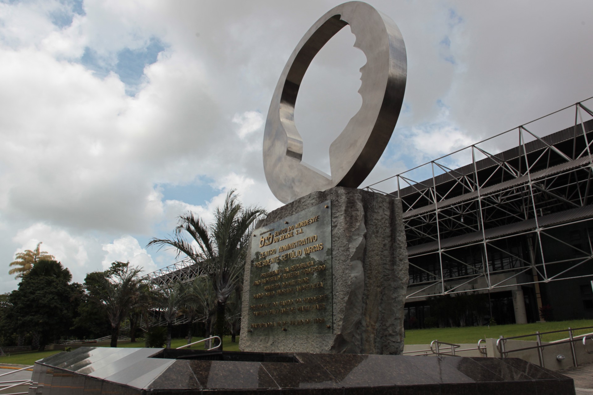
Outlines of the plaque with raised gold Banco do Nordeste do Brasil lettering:
{"label": "plaque with raised gold Banco do Nordeste do Brasil lettering", "polygon": [[331,201],[256,229],[250,264],[253,335],[333,332]]}

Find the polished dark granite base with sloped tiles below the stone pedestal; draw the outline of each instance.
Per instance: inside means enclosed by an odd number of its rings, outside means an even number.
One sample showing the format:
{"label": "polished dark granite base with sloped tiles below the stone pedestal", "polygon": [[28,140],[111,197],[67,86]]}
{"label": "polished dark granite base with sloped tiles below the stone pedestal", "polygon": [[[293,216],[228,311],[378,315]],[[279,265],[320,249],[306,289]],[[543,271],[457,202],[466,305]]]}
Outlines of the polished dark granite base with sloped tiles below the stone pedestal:
{"label": "polished dark granite base with sloped tiles below the stone pedestal", "polygon": [[575,394],[572,378],[517,358],[81,347],[40,359],[29,395]]}

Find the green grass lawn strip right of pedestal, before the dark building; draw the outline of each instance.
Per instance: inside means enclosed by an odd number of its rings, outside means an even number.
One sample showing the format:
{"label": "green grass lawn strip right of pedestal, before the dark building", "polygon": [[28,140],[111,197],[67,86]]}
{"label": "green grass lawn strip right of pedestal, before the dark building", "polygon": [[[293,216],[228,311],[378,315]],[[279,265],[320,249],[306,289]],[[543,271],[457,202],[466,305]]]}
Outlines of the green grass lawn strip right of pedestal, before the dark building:
{"label": "green grass lawn strip right of pedestal, before the dark building", "polygon": [[[578,328],[593,326],[593,320],[572,320],[531,323],[523,325],[495,325],[495,326],[467,326],[454,328],[432,328],[432,329],[410,329],[406,330],[406,344],[430,344],[433,340],[440,340],[448,343],[477,343],[479,339],[498,339],[500,335],[507,337],[529,335],[540,332],[551,332],[552,330],[562,330],[568,327]],[[593,329],[575,331],[575,335],[593,332]],[[543,335],[542,341],[550,342],[553,340],[568,338],[568,332],[551,333]],[[535,336],[531,338],[522,338],[519,340],[535,341]]]}

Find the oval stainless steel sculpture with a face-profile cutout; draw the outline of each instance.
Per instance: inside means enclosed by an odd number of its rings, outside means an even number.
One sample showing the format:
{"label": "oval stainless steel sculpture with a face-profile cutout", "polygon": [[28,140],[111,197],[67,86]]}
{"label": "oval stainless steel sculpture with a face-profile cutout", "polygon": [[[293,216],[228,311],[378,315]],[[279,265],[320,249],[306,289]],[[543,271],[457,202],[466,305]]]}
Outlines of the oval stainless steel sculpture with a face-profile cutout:
{"label": "oval stainless steel sculpture with a face-profile cutout", "polygon": [[[361,109],[330,146],[331,176],[302,159],[302,139],[294,107],[308,66],[345,25],[354,46],[366,56],[361,68]],[[272,193],[289,203],[313,191],[358,187],[374,168],[396,126],[406,88],[406,46],[397,25],[364,2],[351,1],[328,11],[305,33],[276,85],[267,114],[263,165]]]}

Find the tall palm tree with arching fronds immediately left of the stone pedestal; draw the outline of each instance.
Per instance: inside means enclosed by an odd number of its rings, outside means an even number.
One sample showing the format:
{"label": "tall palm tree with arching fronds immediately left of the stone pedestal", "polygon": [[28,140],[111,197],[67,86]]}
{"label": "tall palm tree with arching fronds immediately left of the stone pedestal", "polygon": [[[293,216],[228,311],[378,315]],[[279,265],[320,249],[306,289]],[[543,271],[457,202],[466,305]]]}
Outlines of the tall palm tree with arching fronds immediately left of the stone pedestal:
{"label": "tall palm tree with arching fronds immediately left of the stone pedestal", "polygon": [[[214,221],[209,226],[189,212],[179,216],[173,240],[153,238],[148,243],[148,246],[173,247],[177,250],[177,257],[185,255],[212,280],[216,296],[215,334],[221,339],[225,325],[225,304],[237,284],[243,280],[241,274],[249,235],[254,222],[265,213],[260,207],[243,207],[235,190],[231,190],[222,208],[216,208]],[[184,239],[184,232],[197,243],[197,248]]]}

